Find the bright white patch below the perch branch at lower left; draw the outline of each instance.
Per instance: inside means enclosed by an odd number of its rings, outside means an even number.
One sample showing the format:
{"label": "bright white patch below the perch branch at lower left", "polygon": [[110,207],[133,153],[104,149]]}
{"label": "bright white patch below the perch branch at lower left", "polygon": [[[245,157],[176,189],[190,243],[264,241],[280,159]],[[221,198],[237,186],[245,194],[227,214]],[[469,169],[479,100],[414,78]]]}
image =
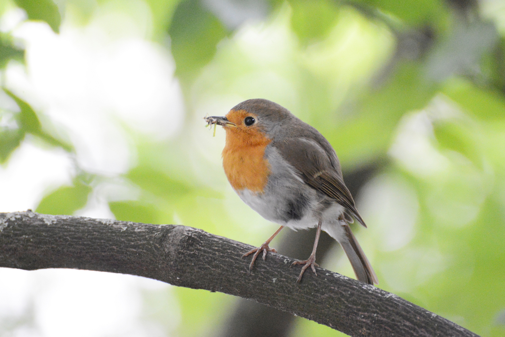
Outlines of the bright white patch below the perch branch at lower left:
{"label": "bright white patch below the perch branch at lower left", "polygon": [[166,314],[174,328],[180,320],[171,285],[161,281],[73,269],[0,268],[0,273],[0,322],[33,317],[33,324],[17,325],[9,335],[166,336],[156,322],[140,319],[146,291],[159,293],[164,309],[171,308]]}

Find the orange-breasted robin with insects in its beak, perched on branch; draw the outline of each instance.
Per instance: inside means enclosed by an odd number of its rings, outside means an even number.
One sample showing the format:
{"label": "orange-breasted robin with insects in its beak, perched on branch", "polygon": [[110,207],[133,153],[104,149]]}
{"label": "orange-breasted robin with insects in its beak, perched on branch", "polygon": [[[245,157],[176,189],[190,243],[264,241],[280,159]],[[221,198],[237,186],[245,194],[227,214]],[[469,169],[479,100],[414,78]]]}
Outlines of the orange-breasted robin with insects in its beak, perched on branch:
{"label": "orange-breasted robin with insects in its beak, perched on branch", "polygon": [[284,227],[317,226],[312,254],[302,264],[297,282],[310,266],[316,273],[316,248],[321,230],[342,246],[358,280],[378,284],[370,262],[349,227],[353,217],[365,222],[342,179],[335,150],[318,130],[296,118],[287,109],[263,99],[247,100],[225,117],[207,117],[209,124],[223,126],[226,142],[223,168],[231,186],[244,203],[280,228],[263,245],[243,255],[252,260],[270,248]]}

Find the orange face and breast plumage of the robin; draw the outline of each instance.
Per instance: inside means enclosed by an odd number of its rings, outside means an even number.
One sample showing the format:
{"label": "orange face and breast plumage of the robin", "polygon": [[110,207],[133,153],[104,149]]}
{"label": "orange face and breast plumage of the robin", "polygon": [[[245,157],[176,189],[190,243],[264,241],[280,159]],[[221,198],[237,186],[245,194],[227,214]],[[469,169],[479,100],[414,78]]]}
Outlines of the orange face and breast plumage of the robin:
{"label": "orange face and breast plumage of the robin", "polygon": [[[223,150],[223,168],[231,186],[262,193],[268,182],[270,164],[265,148],[272,141],[257,126],[258,117],[244,110],[230,110],[226,118],[235,124],[226,125],[226,144]],[[255,122],[251,123],[254,118]]]}

